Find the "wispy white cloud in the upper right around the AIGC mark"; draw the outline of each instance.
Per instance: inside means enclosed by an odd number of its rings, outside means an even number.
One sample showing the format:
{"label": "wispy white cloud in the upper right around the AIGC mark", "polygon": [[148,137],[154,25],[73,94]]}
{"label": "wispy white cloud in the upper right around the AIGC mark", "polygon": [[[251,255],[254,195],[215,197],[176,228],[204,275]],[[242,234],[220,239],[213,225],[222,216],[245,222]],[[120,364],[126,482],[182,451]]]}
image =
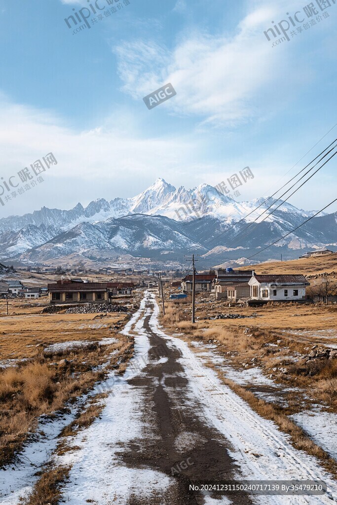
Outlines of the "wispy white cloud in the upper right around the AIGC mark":
{"label": "wispy white cloud in the upper right around the AIGC mark", "polygon": [[288,6],[256,3],[234,34],[195,31],[172,52],[152,40],[121,44],[113,51],[124,91],[139,99],[171,82],[177,95],[164,107],[175,114],[199,116],[202,123],[216,126],[247,122],[257,116],[255,104],[264,90],[280,86],[285,71],[292,75],[291,57],[287,61],[280,47],[274,52],[263,35]]}

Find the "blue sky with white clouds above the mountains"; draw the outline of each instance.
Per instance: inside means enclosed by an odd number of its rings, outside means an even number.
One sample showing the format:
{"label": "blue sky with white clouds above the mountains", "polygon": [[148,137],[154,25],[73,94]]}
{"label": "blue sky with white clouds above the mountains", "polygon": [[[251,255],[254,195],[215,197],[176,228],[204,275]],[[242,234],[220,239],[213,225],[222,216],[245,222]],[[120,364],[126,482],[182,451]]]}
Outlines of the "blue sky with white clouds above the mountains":
{"label": "blue sky with white clouds above the mountains", "polygon": [[[335,1],[0,0],[0,217],[247,166],[236,199],[270,195],[337,138]],[[176,95],[149,110],[142,98],[167,83]],[[20,180],[37,160],[43,173]],[[327,205],[336,167],[290,202]]]}

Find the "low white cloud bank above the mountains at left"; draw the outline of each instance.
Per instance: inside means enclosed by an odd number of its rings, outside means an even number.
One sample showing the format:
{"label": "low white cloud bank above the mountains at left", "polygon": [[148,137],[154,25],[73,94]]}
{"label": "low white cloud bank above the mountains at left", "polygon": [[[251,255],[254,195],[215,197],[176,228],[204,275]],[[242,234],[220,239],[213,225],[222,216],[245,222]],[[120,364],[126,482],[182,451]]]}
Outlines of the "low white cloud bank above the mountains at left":
{"label": "low white cloud bank above the mountains at left", "polygon": [[5,180],[51,151],[58,160],[45,174],[43,191],[34,188],[8,202],[0,207],[0,216],[42,205],[62,208],[96,197],[133,196],[157,177],[183,184],[190,172],[205,170],[201,142],[180,134],[143,138],[128,111],[87,131],[71,130],[52,113],[12,104],[4,96],[0,113],[0,174]]}

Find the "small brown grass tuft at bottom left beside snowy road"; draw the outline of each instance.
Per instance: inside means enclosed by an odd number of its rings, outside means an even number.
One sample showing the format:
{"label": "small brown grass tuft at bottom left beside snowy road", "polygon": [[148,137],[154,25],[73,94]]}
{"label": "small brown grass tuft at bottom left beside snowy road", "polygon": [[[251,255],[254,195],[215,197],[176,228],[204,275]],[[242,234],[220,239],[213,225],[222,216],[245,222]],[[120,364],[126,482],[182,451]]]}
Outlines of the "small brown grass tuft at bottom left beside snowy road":
{"label": "small brown grass tuft at bottom left beside snowy road", "polygon": [[28,497],[21,498],[24,505],[59,505],[62,498],[62,484],[69,477],[71,467],[49,464],[36,482]]}

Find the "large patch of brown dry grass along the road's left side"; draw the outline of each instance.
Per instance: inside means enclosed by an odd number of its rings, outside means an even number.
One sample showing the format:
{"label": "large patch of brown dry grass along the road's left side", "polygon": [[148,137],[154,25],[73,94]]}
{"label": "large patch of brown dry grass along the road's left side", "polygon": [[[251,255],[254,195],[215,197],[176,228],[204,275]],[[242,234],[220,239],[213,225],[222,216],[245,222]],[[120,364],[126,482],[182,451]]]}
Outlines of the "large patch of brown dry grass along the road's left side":
{"label": "large patch of brown dry grass along the road's left side", "polygon": [[[36,430],[39,416],[56,417],[105,378],[106,372],[97,367],[110,360],[110,366],[118,369],[121,359],[125,366],[133,343],[124,335],[119,337],[111,345],[93,342],[54,353],[41,350],[35,358],[0,372],[0,468],[22,449],[28,434]],[[62,359],[68,362],[58,365],[56,360]]]}

